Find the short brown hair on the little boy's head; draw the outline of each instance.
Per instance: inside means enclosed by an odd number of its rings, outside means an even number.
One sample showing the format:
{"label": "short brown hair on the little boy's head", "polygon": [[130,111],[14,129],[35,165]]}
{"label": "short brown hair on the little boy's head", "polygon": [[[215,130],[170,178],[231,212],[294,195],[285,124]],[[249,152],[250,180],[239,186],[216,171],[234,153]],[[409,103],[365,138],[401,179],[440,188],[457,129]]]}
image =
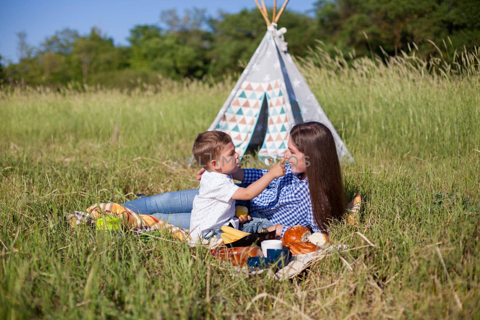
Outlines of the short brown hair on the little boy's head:
{"label": "short brown hair on the little boy's head", "polygon": [[206,166],[212,159],[220,161],[223,149],[232,138],[223,131],[212,130],[199,133],[193,142],[192,154],[199,165]]}

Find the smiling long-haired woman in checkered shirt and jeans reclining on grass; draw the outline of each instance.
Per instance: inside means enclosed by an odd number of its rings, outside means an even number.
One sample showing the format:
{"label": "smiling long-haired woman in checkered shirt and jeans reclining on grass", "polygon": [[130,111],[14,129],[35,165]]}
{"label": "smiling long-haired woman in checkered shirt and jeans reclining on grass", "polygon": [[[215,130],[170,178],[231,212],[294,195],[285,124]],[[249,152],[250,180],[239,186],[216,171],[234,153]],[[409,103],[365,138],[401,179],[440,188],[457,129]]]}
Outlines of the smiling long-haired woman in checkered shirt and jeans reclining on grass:
{"label": "smiling long-haired woman in checkered shirt and jeans reclining on grass", "polygon": [[[326,233],[326,223],[344,212],[345,190],[335,141],[330,130],[315,121],[295,125],[290,131],[285,176],[276,178],[256,198],[237,205],[249,207],[250,221],[240,225],[246,232],[262,227],[281,236],[293,225],[310,225]],[[232,178],[246,186],[262,177],[266,169],[239,169]],[[198,179],[204,169],[198,172]],[[172,225],[189,228],[192,202],[198,189],[166,192],[126,202],[137,212],[152,214]]]}

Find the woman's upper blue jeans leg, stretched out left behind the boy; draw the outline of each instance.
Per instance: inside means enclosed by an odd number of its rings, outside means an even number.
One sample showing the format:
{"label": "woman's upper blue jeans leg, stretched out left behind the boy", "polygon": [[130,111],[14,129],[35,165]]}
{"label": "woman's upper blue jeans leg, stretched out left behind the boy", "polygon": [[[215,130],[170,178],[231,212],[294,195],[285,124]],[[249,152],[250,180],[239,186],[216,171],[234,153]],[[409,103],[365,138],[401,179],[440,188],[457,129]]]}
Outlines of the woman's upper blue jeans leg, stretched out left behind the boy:
{"label": "woman's upper blue jeans leg, stretched out left behind the boy", "polygon": [[125,202],[123,205],[136,213],[190,213],[192,212],[193,198],[198,189],[164,192],[156,196],[144,197]]}

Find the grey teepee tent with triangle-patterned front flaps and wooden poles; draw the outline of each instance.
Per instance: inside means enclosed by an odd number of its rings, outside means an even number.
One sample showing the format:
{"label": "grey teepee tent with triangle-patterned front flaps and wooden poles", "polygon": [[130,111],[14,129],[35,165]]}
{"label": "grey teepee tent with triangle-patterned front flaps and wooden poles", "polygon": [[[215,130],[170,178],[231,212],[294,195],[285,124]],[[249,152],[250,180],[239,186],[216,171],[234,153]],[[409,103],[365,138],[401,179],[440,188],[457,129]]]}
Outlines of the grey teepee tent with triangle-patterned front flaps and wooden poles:
{"label": "grey teepee tent with triangle-patterned front flaps and wooden poles", "polygon": [[260,157],[275,157],[287,150],[288,132],[294,124],[315,120],[332,131],[339,158],[353,162],[288,53],[283,37],[287,29],[277,30],[276,22],[288,0],[278,14],[275,0],[272,23],[264,1],[263,7],[255,2],[264,16],[267,32],[208,130],[228,133],[240,155],[247,148],[259,148]]}

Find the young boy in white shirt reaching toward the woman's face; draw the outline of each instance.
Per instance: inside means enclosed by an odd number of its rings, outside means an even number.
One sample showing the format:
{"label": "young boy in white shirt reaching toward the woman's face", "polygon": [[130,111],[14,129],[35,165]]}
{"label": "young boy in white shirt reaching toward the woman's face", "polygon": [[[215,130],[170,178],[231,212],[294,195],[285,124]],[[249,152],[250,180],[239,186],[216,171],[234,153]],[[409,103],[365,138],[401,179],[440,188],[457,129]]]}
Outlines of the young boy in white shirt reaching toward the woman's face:
{"label": "young boy in white shirt reaching toward the woman's face", "polygon": [[230,136],[222,131],[200,133],[193,143],[192,153],[198,164],[205,168],[200,180],[200,192],[193,200],[190,219],[192,239],[211,238],[219,233],[223,225],[232,225],[238,229],[235,200],[252,200],[265,190],[273,179],[285,174],[282,159],[247,188],[234,184],[231,173],[240,166],[239,154],[235,152]]}

